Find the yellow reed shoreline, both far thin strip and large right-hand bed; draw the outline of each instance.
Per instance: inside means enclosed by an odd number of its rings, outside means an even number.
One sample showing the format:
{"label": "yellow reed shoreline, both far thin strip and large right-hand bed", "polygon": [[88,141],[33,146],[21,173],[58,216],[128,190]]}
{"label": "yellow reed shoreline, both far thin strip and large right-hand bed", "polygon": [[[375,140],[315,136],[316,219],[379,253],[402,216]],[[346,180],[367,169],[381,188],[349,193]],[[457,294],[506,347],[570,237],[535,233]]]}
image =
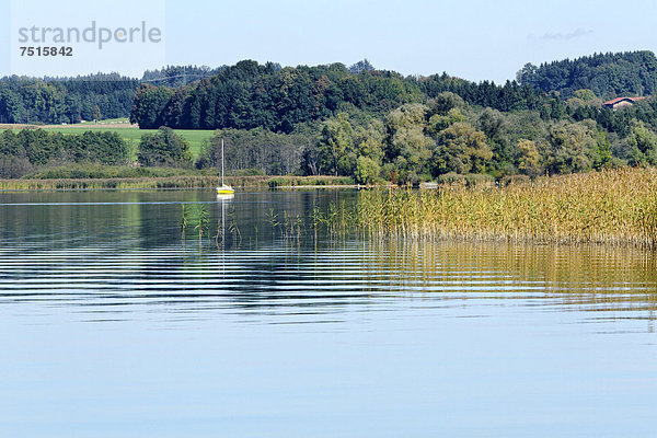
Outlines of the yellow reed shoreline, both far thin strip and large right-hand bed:
{"label": "yellow reed shoreline, both far thin strip and large right-hand bed", "polygon": [[[230,176],[240,191],[364,189],[354,210],[313,212],[314,227],[385,241],[471,241],[657,250],[657,169],[558,175],[509,185],[359,186],[335,176]],[[217,175],[0,180],[0,193],[212,191]],[[342,184],[341,184],[342,183]]]}

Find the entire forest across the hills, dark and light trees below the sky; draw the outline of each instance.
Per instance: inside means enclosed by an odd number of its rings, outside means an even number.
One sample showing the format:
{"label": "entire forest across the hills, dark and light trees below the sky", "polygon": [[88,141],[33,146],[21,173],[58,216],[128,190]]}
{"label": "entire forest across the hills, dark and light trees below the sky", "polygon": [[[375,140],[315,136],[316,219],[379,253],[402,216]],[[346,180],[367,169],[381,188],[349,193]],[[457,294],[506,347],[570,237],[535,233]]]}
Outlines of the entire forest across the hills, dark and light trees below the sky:
{"label": "entire forest across the hills, dark and light trees below the sky", "polygon": [[[403,77],[367,60],[349,68],[251,60],[166,67],[142,80],[4,78],[0,123],[129,114],[140,128],[216,129],[199,157],[164,148],[139,155],[146,166],[216,166],[223,139],[227,169],[239,173],[362,184],[534,177],[656,164],[656,67],[653,53],[634,51],[526,65],[505,84]],[[648,99],[620,111],[602,105],[619,95]],[[155,143],[142,138],[140,148]]]}

